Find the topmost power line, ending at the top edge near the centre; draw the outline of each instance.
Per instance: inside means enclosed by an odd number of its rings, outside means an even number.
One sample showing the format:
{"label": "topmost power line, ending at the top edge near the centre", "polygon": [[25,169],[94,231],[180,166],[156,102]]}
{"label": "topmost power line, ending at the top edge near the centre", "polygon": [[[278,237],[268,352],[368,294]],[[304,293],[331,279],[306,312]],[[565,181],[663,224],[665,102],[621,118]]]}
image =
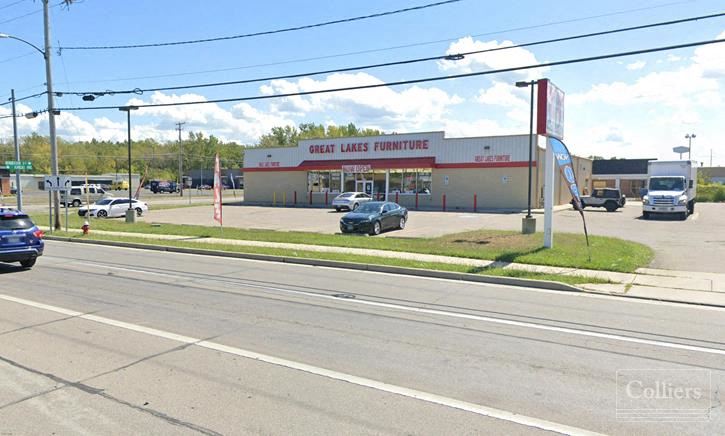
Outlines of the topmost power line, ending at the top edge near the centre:
{"label": "topmost power line, ending at the top edge near the centre", "polygon": [[388,15],[401,14],[401,13],[405,13],[405,12],[418,11],[421,9],[428,9],[428,8],[432,8],[432,7],[436,7],[436,6],[442,6],[442,5],[446,5],[446,4],[450,4],[450,3],[457,3],[459,1],[461,1],[461,0],[443,0],[443,1],[436,2],[436,3],[428,3],[425,5],[413,6],[413,7],[404,8],[404,9],[396,9],[393,11],[378,12],[378,13],[370,14],[370,15],[361,15],[358,17],[343,18],[340,20],[324,21],[322,23],[316,23],[316,24],[305,24],[303,26],[287,27],[287,28],[283,28],[283,29],[265,30],[262,32],[254,32],[254,33],[245,33],[242,35],[220,36],[217,38],[193,39],[193,40],[188,40],[188,41],[157,42],[157,43],[151,43],[151,44],[76,46],[76,47],[59,47],[59,49],[60,50],[115,50],[115,49],[128,49],[128,48],[167,47],[167,46],[174,46],[174,45],[188,45],[188,44],[201,44],[201,43],[207,43],[207,42],[228,41],[228,40],[232,40],[232,39],[250,38],[250,37],[254,37],[254,36],[273,35],[276,33],[285,33],[285,32],[293,32],[293,31],[297,31],[297,30],[312,29],[315,27],[323,27],[323,26],[330,26],[333,24],[349,23],[352,21],[361,21],[361,20],[367,20],[370,18],[380,18],[380,17],[384,17],[384,16],[388,16]]}

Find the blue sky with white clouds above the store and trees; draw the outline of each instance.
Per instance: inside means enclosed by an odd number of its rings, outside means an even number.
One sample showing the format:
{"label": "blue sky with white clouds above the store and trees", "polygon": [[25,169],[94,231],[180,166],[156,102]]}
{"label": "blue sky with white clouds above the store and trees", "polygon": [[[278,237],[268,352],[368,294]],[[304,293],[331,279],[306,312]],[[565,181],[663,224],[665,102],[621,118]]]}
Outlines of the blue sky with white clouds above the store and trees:
{"label": "blue sky with white clouds above the store and trees", "polygon": [[[725,17],[574,41],[384,68],[309,73],[525,44],[583,33],[725,12],[715,0],[550,2],[461,0],[399,14],[290,32],[190,45],[78,50],[226,37],[365,16],[436,0],[51,0],[53,84],[63,139],[126,139],[126,115],[104,106],[274,96],[328,88],[446,77],[611,53],[725,39]],[[42,47],[42,4],[0,0],[0,33]],[[60,55],[59,55],[60,52]],[[123,93],[269,78],[221,87]],[[173,141],[176,123],[225,141],[255,144],[272,127],[347,124],[392,133],[444,131],[446,137],[527,134],[529,90],[549,78],[564,91],[564,140],[574,154],[677,159],[694,133],[692,158],[725,165],[725,43],[367,90],[132,112],[132,137]],[[40,53],[0,39],[0,103],[45,90]],[[72,93],[107,92],[93,102]],[[17,111],[47,109],[47,97]],[[82,108],[84,110],[78,110]],[[10,113],[0,106],[0,117]],[[48,134],[47,116],[18,119],[21,136]],[[12,138],[10,118],[0,139]]]}

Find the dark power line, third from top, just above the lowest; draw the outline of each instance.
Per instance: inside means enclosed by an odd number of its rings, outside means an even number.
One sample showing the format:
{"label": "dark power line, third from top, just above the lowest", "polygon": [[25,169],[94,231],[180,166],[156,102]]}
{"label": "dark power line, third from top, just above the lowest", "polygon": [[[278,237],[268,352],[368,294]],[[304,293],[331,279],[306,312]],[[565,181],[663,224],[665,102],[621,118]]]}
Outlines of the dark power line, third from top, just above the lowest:
{"label": "dark power line, third from top, just above the lowest", "polygon": [[144,92],[176,91],[176,90],[192,89],[192,88],[209,88],[209,87],[217,87],[217,86],[241,85],[241,84],[248,84],[248,83],[255,83],[255,82],[267,82],[267,81],[280,80],[280,79],[293,79],[293,78],[307,77],[307,76],[318,76],[318,75],[322,75],[322,74],[368,70],[368,69],[373,69],[373,68],[406,65],[406,64],[428,62],[428,61],[434,61],[434,60],[457,60],[457,59],[462,59],[465,56],[470,56],[470,55],[474,55],[474,54],[489,53],[489,52],[495,52],[495,51],[501,51],[501,50],[511,50],[514,48],[532,47],[532,46],[536,46],[536,45],[544,45],[544,44],[551,44],[551,43],[556,43],[556,42],[572,41],[572,40],[576,40],[576,39],[612,35],[612,34],[616,34],[616,33],[631,32],[634,30],[651,29],[651,28],[662,27],[662,26],[671,26],[671,25],[675,25],[675,24],[682,24],[682,23],[688,23],[688,22],[693,22],[693,21],[718,18],[718,17],[723,17],[723,16],[725,16],[725,12],[709,14],[709,15],[700,15],[697,17],[690,17],[690,18],[682,18],[682,19],[678,19],[678,20],[661,21],[661,22],[657,22],[657,23],[643,24],[643,25],[639,25],[639,26],[617,28],[617,29],[605,30],[605,31],[601,31],[601,32],[592,32],[592,33],[584,33],[584,34],[573,35],[573,36],[565,36],[565,37],[561,37],[561,38],[553,38],[553,39],[547,39],[547,40],[542,40],[542,41],[527,42],[527,43],[523,43],[523,44],[516,44],[516,45],[505,46],[505,47],[495,47],[495,48],[489,48],[489,49],[474,50],[474,51],[449,54],[449,55],[430,56],[430,57],[424,57],[424,58],[384,62],[384,63],[379,63],[379,64],[359,65],[359,66],[353,66],[353,67],[335,68],[335,69],[314,71],[314,72],[286,74],[286,75],[271,76],[271,77],[261,77],[261,78],[255,78],[255,79],[201,83],[201,84],[195,84],[195,85],[166,86],[166,87],[147,88],[147,89],[135,88],[133,90],[124,90],[124,91],[108,91],[108,90],[107,91],[86,91],[86,92],[78,92],[78,91],[67,92],[67,91],[65,91],[63,93],[72,94],[72,95],[94,95],[94,96],[102,96],[102,95],[107,95],[107,94],[109,94],[109,95],[131,94],[131,93],[141,95]]}

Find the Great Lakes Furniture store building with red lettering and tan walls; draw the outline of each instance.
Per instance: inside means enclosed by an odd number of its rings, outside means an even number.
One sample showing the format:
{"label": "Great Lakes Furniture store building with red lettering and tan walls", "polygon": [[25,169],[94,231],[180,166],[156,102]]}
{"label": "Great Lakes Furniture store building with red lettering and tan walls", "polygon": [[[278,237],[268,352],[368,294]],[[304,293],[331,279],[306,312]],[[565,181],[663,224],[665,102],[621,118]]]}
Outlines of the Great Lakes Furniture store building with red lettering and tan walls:
{"label": "Great Lakes Furniture store building with red lettering and tan walls", "polygon": [[[543,204],[544,147],[535,136],[532,204]],[[591,161],[573,157],[580,186]],[[244,201],[325,205],[341,191],[437,210],[522,210],[528,202],[529,135],[446,138],[443,132],[302,140],[244,155]],[[557,176],[557,204],[571,200]]]}

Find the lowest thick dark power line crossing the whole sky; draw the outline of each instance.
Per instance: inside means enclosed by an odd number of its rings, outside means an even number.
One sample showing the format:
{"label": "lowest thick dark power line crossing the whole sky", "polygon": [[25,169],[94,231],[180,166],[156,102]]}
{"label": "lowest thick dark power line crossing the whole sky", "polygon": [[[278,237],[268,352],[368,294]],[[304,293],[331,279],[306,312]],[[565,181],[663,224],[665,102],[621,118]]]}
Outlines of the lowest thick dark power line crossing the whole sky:
{"label": "lowest thick dark power line crossing the whole sky", "polygon": [[[725,42],[725,39],[712,39],[712,40],[706,40],[706,41],[691,42],[691,43],[687,43],[687,44],[669,45],[669,46],[664,46],[664,47],[632,50],[632,51],[627,51],[627,52],[610,53],[610,54],[598,55],[598,56],[588,56],[588,57],[584,57],[584,58],[566,59],[563,61],[546,62],[546,63],[541,63],[541,64],[532,64],[532,65],[525,65],[525,66],[519,66],[519,67],[500,68],[497,70],[487,70],[487,71],[479,71],[479,72],[474,72],[474,73],[455,74],[455,75],[450,75],[450,76],[434,76],[434,77],[425,77],[425,78],[420,78],[420,79],[400,80],[400,81],[386,82],[386,83],[376,83],[376,84],[370,84],[370,85],[348,86],[348,87],[341,87],[341,88],[328,88],[328,89],[319,89],[319,90],[315,90],[315,91],[290,92],[290,93],[285,93],[285,94],[256,95],[256,96],[251,96],[251,97],[233,97],[233,98],[222,98],[222,99],[215,99],[215,100],[187,101],[187,102],[173,102],[173,103],[136,104],[134,106],[138,107],[138,108],[147,108],[147,107],[150,108],[150,107],[188,106],[188,105],[211,104],[211,103],[234,103],[234,102],[240,102],[240,101],[269,100],[269,99],[273,99],[273,98],[298,97],[298,96],[313,95],[313,94],[327,94],[327,93],[341,92],[341,91],[355,91],[355,90],[361,90],[361,89],[382,88],[382,87],[386,87],[386,86],[412,85],[412,84],[416,84],[416,83],[436,82],[436,81],[441,81],[441,80],[461,79],[461,78],[467,78],[467,77],[477,77],[477,76],[486,76],[486,75],[491,75],[491,74],[508,73],[508,72],[513,72],[513,71],[533,70],[533,69],[544,68],[544,67],[555,67],[555,66],[560,66],[560,65],[576,64],[576,63],[583,63],[583,62],[593,62],[593,61],[598,61],[598,60],[612,59],[612,58],[625,57],[625,56],[635,56],[635,55],[641,55],[641,54],[647,54],[647,53],[655,53],[655,52],[668,51],[668,50],[677,50],[677,49],[682,49],[682,48],[699,47],[699,46],[710,45],[710,44],[718,44],[721,42]],[[124,106],[58,108],[58,110],[64,110],[64,111],[106,110],[106,109],[118,109],[119,107],[124,107]]]}

